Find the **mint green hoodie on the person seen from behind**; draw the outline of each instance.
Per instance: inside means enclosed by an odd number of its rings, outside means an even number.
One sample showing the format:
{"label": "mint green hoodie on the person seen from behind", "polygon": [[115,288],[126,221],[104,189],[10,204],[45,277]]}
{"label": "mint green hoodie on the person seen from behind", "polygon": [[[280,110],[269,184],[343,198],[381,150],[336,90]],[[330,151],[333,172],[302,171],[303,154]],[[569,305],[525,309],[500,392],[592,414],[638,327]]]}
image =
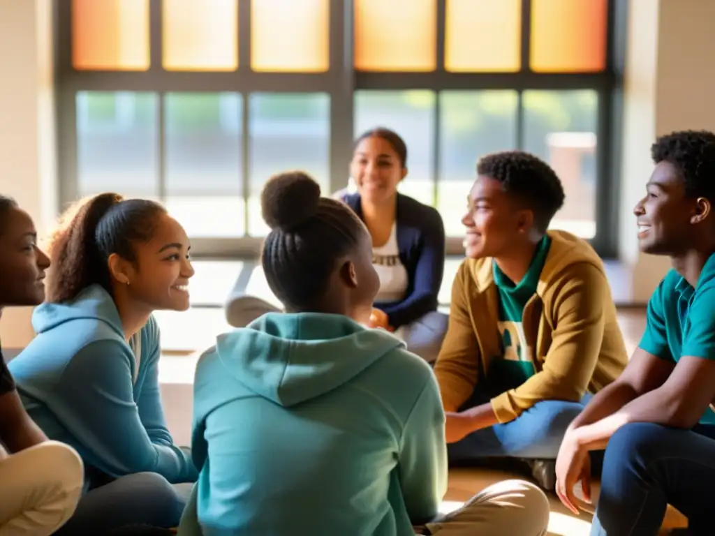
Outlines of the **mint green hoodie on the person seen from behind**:
{"label": "mint green hoodie on the person seen from behind", "polygon": [[179,535],[413,536],[447,487],[432,370],[382,330],[269,313],[197,365]]}

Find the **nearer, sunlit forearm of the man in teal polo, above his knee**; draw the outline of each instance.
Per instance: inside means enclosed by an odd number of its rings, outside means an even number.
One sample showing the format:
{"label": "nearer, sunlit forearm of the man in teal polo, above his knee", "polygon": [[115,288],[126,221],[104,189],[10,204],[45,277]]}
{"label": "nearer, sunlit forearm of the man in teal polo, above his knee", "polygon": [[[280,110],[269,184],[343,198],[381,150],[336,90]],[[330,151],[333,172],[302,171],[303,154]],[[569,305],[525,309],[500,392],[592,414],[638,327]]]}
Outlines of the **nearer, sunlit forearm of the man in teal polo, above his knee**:
{"label": "nearer, sunlit forearm of the man in teal polo, above his knee", "polygon": [[676,426],[681,425],[677,420],[677,412],[669,410],[674,404],[661,389],[633,399],[621,407],[613,415],[604,417],[593,424],[583,425],[574,430],[576,441],[586,450],[603,450],[608,445],[608,440],[623,425],[631,422],[652,422],[655,424]]}

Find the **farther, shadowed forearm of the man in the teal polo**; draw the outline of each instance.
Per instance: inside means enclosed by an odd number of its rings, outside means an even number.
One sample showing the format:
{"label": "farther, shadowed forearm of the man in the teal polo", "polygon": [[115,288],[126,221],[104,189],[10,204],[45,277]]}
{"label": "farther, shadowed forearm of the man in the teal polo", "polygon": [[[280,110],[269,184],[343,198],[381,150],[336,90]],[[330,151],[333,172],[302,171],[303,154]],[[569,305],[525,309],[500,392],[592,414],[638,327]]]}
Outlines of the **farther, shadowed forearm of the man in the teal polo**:
{"label": "farther, shadowed forearm of the man in the teal polo", "polygon": [[613,415],[643,394],[658,389],[668,379],[675,364],[636,348],[621,376],[599,391],[586,408],[571,422],[573,430]]}

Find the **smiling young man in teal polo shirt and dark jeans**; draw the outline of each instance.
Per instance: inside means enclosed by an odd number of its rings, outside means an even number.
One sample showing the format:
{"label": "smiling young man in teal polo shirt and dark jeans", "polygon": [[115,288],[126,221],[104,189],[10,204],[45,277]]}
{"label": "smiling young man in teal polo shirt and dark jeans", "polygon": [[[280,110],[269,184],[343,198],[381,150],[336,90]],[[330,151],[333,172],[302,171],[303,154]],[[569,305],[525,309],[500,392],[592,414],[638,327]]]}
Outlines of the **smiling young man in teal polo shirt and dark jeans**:
{"label": "smiling young man in teal polo shirt and dark jeans", "polygon": [[688,517],[689,534],[715,532],[715,134],[674,132],[652,156],[638,241],[673,269],[626,370],[573,420],[556,460],[556,491],[577,512],[588,452],[606,448],[591,535],[655,536],[667,504]]}

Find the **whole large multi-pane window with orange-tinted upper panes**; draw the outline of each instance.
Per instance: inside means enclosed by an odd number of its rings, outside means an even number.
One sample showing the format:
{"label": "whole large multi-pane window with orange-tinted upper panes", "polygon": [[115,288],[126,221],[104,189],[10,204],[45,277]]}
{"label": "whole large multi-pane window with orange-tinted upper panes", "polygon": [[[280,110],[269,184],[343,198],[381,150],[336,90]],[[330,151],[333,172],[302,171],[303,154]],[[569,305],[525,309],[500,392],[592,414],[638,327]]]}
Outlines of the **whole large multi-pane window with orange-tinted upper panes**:
{"label": "whole large multi-pane window with orange-tinted upper panes", "polygon": [[164,202],[197,256],[255,256],[259,195],[302,169],[347,186],[352,140],[408,145],[400,190],[448,252],[475,165],[523,149],[566,190],[553,227],[616,251],[611,144],[623,0],[57,0],[63,203]]}

